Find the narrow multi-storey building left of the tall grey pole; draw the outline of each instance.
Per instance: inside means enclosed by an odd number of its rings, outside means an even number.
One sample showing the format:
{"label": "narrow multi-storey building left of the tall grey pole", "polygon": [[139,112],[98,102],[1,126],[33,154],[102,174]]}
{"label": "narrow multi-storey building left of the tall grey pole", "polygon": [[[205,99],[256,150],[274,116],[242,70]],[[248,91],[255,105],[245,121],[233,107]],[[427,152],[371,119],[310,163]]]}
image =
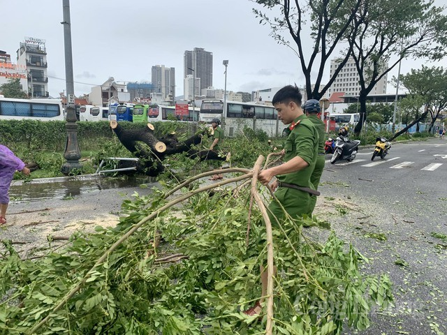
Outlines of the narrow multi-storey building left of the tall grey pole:
{"label": "narrow multi-storey building left of the tall grey pole", "polygon": [[45,40],[25,37],[17,50],[17,67],[27,69],[30,96],[34,98],[49,96]]}

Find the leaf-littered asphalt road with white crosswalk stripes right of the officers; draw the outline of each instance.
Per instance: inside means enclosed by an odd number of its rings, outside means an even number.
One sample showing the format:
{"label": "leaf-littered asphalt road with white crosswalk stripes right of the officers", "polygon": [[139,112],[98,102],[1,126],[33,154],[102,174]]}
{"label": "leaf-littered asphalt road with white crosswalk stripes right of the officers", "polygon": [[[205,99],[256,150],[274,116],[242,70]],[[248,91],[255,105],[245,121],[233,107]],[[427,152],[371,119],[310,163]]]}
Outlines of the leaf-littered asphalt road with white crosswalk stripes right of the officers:
{"label": "leaf-littered asphalt road with white crosswalk stripes right of the officers", "polygon": [[393,144],[374,164],[372,151],[360,149],[349,164],[327,162],[318,188],[323,202],[358,205],[332,217],[332,228],[372,260],[367,272],[386,272],[394,284],[395,307],[373,311],[360,334],[447,334],[447,239],[432,236],[447,237],[447,141]]}

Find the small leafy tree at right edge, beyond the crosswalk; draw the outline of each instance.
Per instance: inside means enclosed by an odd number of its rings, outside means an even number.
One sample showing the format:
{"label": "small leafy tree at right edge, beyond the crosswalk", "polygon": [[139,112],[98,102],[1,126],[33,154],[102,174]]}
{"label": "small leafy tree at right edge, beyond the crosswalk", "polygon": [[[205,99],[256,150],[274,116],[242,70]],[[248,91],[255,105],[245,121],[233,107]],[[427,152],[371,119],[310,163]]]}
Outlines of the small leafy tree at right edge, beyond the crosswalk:
{"label": "small leafy tree at right edge, beyond the crosswalk", "polygon": [[430,113],[431,121],[428,131],[432,131],[434,121],[439,113],[447,107],[447,70],[442,67],[422,66],[420,70],[402,75],[402,86],[410,94],[420,97]]}

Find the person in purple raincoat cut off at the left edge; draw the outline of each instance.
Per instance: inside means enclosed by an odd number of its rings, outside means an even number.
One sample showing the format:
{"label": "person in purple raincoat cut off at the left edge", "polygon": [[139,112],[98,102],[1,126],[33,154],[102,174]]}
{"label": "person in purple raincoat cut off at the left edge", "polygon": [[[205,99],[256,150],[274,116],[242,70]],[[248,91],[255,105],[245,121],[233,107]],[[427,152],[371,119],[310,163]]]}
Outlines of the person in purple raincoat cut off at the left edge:
{"label": "person in purple raincoat cut off at the left edge", "polygon": [[9,203],[8,191],[15,171],[20,171],[25,176],[29,176],[31,173],[13,151],[0,144],[0,225],[6,223],[6,209]]}

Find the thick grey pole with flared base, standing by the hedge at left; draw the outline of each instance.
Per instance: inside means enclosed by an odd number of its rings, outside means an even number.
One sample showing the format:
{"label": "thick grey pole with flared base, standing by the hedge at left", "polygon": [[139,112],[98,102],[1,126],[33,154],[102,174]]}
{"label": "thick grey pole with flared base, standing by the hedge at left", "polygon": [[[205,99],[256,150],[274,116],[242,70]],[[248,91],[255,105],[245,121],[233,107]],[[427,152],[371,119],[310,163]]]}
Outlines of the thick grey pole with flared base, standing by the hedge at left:
{"label": "thick grey pole with flared base, standing by the hedge at left", "polygon": [[67,140],[65,144],[64,158],[66,163],[62,165],[61,172],[70,174],[73,169],[81,169],[79,163],[81,151],[78,144],[78,124],[76,124],[75,112],[75,86],[73,82],[73,57],[71,50],[71,21],[70,21],[70,0],[62,1],[64,12],[64,50],[65,50],[65,77],[66,77],[66,133]]}

